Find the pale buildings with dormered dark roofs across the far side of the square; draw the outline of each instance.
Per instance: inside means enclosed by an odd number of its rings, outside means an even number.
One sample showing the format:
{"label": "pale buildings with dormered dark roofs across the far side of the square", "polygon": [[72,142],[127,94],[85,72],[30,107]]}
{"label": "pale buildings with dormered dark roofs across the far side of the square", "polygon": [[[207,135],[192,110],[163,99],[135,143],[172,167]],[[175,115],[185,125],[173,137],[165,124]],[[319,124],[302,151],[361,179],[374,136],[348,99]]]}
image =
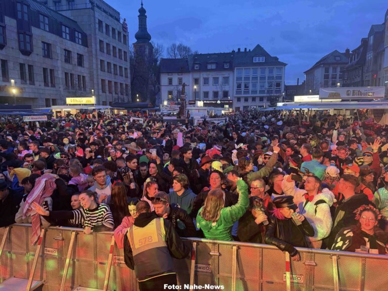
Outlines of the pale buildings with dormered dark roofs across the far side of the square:
{"label": "pale buildings with dormered dark roofs across the far side of the square", "polygon": [[260,45],[252,51],[162,59],[162,104],[175,103],[185,83],[186,99],[203,101],[204,106],[233,106],[237,111],[264,107],[283,96],[285,66]]}

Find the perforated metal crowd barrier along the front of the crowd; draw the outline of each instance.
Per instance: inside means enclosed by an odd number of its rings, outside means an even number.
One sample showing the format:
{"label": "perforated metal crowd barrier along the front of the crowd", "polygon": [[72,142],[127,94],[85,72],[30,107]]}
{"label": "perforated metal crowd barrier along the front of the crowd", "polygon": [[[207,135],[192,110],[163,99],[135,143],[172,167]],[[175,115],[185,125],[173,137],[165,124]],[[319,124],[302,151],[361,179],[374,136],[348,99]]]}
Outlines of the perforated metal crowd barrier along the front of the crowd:
{"label": "perforated metal crowd barrier along the front of the crowd", "polygon": [[[41,236],[41,249],[30,245],[30,235],[30,224],[0,228],[0,290],[10,278],[28,281],[12,290],[32,290],[38,282],[50,291],[138,290],[113,232],[86,235],[79,228],[50,227]],[[231,291],[388,289],[384,255],[299,248],[302,259],[294,262],[274,246],[200,238],[185,243],[192,246],[191,256],[174,260],[182,290],[194,284]]]}

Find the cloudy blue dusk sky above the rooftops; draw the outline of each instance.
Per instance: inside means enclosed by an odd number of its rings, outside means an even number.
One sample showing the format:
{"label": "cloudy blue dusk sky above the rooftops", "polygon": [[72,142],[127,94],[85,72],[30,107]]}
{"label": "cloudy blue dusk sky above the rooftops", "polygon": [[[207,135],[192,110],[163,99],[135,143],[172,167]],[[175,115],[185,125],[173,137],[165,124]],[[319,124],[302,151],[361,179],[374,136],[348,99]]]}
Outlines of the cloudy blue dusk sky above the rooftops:
{"label": "cloudy blue dusk sky above the rooftops", "polygon": [[[127,19],[135,41],[140,0],[105,0]],[[230,52],[260,44],[287,63],[286,84],[324,55],[355,49],[372,24],[384,21],[386,0],[144,0],[152,41],[182,42],[199,53]]]}

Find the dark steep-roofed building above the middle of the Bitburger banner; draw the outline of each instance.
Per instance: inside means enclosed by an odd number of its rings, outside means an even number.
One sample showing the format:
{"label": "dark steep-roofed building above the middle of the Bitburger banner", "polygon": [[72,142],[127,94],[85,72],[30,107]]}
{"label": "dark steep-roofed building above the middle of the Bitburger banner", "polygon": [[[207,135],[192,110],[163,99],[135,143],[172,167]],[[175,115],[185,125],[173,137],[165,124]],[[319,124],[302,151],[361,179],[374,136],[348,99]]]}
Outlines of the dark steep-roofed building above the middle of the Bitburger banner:
{"label": "dark steep-roofed building above the middle of the Bitburger banner", "polygon": [[349,64],[343,70],[343,87],[363,87],[368,38],[361,38],[361,44],[352,51]]}

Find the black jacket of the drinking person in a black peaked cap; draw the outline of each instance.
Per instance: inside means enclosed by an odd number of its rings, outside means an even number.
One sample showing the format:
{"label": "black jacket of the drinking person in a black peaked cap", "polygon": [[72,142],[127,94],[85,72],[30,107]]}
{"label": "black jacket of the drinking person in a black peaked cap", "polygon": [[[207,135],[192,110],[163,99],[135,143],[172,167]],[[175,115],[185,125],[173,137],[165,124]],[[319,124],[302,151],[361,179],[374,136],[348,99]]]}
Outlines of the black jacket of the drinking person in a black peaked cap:
{"label": "black jacket of the drinking person in a black peaked cap", "polygon": [[296,225],[292,219],[277,219],[271,215],[265,232],[265,242],[274,245],[281,251],[296,255],[294,247],[307,248],[305,236],[313,236],[314,228],[307,219]]}

